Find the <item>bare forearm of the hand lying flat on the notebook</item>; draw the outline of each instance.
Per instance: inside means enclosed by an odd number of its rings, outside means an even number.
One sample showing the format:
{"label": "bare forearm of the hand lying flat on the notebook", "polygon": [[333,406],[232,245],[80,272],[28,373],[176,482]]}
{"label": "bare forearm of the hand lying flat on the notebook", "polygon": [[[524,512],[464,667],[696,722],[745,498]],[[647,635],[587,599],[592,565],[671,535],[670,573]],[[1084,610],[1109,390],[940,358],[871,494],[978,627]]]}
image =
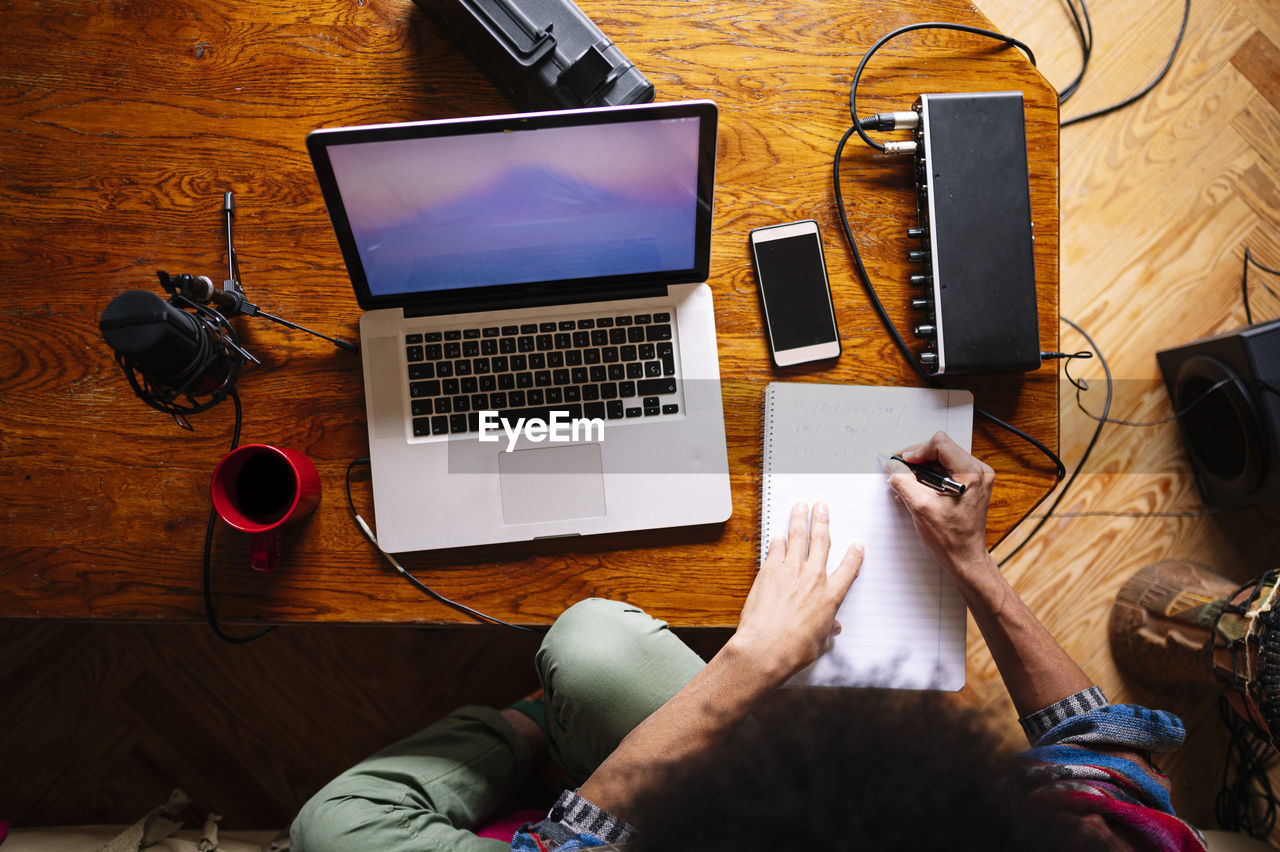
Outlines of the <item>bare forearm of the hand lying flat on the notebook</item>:
{"label": "bare forearm of the hand lying flat on the notebook", "polygon": [[657,764],[678,762],[728,736],[786,679],[767,672],[735,638],[667,704],[640,723],[579,788],[579,794],[627,821],[631,800]]}

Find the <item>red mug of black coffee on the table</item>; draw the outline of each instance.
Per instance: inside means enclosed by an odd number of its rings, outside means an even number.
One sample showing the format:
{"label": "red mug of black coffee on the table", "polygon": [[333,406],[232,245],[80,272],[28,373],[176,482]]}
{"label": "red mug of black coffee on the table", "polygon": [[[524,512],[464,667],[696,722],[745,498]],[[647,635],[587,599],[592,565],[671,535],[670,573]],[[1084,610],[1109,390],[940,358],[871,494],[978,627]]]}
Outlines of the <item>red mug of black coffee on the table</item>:
{"label": "red mug of black coffee on the table", "polygon": [[280,564],[285,528],[320,503],[320,475],[297,450],[246,444],[218,463],[211,490],[218,516],[252,536],[250,568],[266,573]]}

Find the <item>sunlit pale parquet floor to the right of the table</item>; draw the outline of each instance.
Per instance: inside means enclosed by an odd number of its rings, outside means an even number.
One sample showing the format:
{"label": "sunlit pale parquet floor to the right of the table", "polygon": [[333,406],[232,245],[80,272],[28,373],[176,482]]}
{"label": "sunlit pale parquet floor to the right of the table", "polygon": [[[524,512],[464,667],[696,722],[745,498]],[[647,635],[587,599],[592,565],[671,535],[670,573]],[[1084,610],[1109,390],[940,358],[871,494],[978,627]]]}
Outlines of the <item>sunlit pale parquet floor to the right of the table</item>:
{"label": "sunlit pale parquet floor to the right of the table", "polygon": [[[1080,50],[1064,3],[978,0],[998,29],[1015,33],[1062,88]],[[1179,0],[1089,0],[1094,52],[1069,119],[1144,86],[1164,64],[1183,14]],[[1062,130],[1062,316],[1080,325],[1115,376],[1111,416],[1170,416],[1155,352],[1243,326],[1244,247],[1280,267],[1280,6],[1268,0],[1193,0],[1178,60],[1137,105]],[[1251,274],[1251,281],[1267,280]],[[1267,280],[1274,288],[1280,284]],[[1253,287],[1253,319],[1280,316],[1280,302]],[[1084,340],[1062,327],[1062,349]],[[1102,411],[1097,362],[1089,411]],[[1071,391],[1071,393],[1068,393]],[[1096,423],[1064,384],[1062,458],[1074,466]],[[1047,504],[1046,504],[1047,505]],[[1203,508],[1174,423],[1106,426],[1085,472],[1060,510],[1179,512]],[[1023,530],[1030,525],[1024,523]],[[1015,531],[997,556],[1023,537]],[[1213,825],[1226,734],[1213,693],[1158,693],[1126,682],[1107,647],[1116,590],[1146,564],[1203,563],[1235,581],[1276,565],[1280,514],[1233,512],[1207,518],[1085,517],[1051,521],[1006,567],[1048,628],[1112,701],[1179,713],[1187,745],[1161,761],[1174,803]],[[995,714],[1011,714],[984,649],[973,645],[969,679]]]}

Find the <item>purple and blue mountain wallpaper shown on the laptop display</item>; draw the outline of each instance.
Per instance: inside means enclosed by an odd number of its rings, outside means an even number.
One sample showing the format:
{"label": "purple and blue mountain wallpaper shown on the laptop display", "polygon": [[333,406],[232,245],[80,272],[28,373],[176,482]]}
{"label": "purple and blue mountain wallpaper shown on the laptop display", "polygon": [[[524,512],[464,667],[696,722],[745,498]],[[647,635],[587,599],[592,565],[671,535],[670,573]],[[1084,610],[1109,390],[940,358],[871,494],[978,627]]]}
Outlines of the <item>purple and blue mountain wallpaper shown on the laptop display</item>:
{"label": "purple and blue mountain wallpaper shown on the laptop display", "polygon": [[696,118],[329,150],[374,296],[694,266]]}

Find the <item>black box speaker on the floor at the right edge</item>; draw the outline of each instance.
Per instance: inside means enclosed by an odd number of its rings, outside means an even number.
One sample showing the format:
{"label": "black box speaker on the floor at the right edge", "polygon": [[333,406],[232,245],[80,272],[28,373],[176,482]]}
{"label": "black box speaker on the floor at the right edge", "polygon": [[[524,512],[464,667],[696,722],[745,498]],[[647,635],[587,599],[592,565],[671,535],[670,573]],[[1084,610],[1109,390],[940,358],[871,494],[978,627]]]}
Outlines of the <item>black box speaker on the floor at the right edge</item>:
{"label": "black box speaker on the floor at the right edge", "polygon": [[1280,320],[1156,353],[1206,505],[1280,505]]}

